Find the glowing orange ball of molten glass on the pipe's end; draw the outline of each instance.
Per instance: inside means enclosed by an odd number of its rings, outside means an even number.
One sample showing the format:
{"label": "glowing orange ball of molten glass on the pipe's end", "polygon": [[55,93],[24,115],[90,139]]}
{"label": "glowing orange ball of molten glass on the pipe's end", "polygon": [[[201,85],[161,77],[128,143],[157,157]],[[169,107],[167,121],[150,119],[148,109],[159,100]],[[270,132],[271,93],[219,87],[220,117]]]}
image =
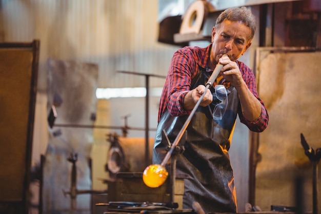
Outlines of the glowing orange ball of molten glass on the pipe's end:
{"label": "glowing orange ball of molten glass on the pipe's end", "polygon": [[164,184],[168,172],[166,168],[159,164],[152,164],[146,167],[143,172],[143,181],[148,187],[156,188]]}

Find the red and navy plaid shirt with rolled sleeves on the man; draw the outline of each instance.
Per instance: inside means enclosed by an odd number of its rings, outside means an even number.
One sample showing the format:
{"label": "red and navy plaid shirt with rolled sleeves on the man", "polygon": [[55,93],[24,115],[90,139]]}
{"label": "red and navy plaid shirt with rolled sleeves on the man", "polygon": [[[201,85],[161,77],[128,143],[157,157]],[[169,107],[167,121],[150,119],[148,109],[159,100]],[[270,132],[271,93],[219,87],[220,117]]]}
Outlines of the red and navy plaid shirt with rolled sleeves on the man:
{"label": "red and navy plaid shirt with rolled sleeves on the man", "polygon": [[[207,65],[207,62],[210,60],[211,47],[212,44],[206,48],[187,46],[178,49],[174,53],[160,98],[158,122],[165,108],[168,109],[172,116],[189,114],[191,112],[184,109],[184,98],[190,90],[192,78],[198,72],[198,66],[205,68],[207,71],[212,71]],[[262,104],[261,115],[255,121],[246,120],[242,114],[242,109],[239,108],[238,115],[240,122],[244,123],[251,131],[262,132],[268,126],[269,116],[263,101],[258,97],[254,74],[244,63],[240,61],[236,61],[236,63],[240,72],[242,72],[246,85]],[[221,81],[226,82],[224,79]]]}

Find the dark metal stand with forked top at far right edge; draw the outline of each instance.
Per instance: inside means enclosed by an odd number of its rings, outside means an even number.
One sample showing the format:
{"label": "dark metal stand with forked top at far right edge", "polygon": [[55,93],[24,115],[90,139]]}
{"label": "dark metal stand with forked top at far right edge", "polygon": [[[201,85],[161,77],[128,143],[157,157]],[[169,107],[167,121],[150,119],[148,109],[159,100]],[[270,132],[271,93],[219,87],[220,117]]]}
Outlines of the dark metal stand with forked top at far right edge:
{"label": "dark metal stand with forked top at far right edge", "polygon": [[318,172],[317,172],[317,165],[321,159],[321,148],[317,148],[315,151],[312,147],[310,147],[305,140],[303,134],[301,133],[301,144],[305,149],[305,154],[310,159],[312,163],[312,190],[313,190],[313,214],[318,214],[318,207],[317,207],[317,180],[318,180]]}

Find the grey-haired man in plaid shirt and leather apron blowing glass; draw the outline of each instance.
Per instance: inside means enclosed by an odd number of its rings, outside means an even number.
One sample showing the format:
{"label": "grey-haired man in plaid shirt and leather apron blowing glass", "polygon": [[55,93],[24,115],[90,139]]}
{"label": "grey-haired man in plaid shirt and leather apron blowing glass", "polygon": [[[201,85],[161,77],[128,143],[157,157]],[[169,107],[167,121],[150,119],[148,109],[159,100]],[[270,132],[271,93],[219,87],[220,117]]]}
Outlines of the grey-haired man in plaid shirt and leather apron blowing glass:
{"label": "grey-haired man in plaid shirt and leather apron blowing glass", "polygon": [[[184,47],[173,55],[160,99],[154,164],[162,163],[166,155],[168,143],[163,130],[172,143],[205,93],[186,129],[185,151],[177,155],[177,173],[189,177],[184,180],[183,208],[190,209],[198,202],[205,212],[237,212],[228,154],[237,114],[251,131],[262,132],[268,125],[253,72],[237,60],[251,46],[254,33],[251,11],[230,8],[217,18],[208,47]],[[218,63],[223,68],[213,87],[205,91]],[[223,93],[218,88],[223,88]]]}

